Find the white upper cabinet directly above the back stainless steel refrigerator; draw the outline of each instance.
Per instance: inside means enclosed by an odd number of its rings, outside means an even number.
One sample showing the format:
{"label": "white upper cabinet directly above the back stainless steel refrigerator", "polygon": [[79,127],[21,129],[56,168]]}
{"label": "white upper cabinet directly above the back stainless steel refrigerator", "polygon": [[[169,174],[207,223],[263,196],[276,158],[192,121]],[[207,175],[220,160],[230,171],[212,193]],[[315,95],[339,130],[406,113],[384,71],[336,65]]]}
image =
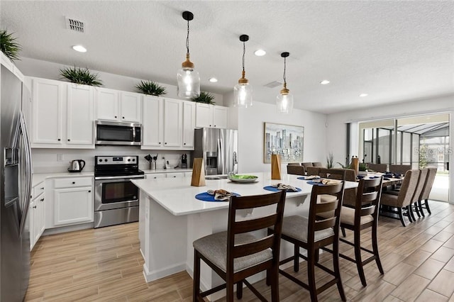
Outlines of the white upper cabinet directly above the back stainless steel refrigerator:
{"label": "white upper cabinet directly above the back stainless steel refrigerator", "polygon": [[196,128],[227,128],[228,107],[196,104]]}

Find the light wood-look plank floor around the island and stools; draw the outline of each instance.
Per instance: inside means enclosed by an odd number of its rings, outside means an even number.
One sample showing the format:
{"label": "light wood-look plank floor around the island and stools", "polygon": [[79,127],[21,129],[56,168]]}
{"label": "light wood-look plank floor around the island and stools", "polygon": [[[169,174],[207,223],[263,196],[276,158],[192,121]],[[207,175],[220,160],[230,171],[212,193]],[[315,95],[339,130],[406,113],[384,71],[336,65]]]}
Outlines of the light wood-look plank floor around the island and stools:
{"label": "light wood-look plank floor around the island and stools", "polygon": [[[385,273],[380,275],[375,262],[367,264],[366,287],[355,264],[341,259],[348,301],[454,301],[454,205],[432,201],[431,209],[431,216],[406,228],[380,217]],[[365,247],[370,247],[368,236],[362,236]],[[343,243],[341,252],[353,257],[352,247]],[[331,257],[323,253],[320,261],[331,263]],[[192,278],[186,272],[147,284],[142,264],[138,223],[44,236],[32,252],[25,301],[192,301]],[[297,275],[306,279],[304,262]],[[316,276],[326,278],[321,270]],[[256,286],[270,297],[264,281]],[[279,276],[279,294],[281,301],[310,301],[308,291],[284,276]],[[240,301],[258,299],[245,289]],[[341,301],[336,286],[321,293],[319,301]]]}

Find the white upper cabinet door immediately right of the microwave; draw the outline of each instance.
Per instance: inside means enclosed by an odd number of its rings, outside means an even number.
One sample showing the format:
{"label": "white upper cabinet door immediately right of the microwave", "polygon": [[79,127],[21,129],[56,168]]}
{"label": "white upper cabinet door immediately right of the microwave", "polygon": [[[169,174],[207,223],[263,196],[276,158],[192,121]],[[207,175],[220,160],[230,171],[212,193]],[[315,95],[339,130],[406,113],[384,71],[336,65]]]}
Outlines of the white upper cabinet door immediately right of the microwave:
{"label": "white upper cabinet door immediately right of the microwave", "polygon": [[155,96],[143,98],[142,147],[162,147],[164,128],[163,100]]}

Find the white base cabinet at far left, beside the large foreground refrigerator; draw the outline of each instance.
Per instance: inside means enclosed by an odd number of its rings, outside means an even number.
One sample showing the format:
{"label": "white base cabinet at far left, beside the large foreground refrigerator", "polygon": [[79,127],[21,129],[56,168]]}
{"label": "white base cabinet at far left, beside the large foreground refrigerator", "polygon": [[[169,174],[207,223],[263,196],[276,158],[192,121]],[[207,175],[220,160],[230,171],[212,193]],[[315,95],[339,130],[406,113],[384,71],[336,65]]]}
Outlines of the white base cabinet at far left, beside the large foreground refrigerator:
{"label": "white base cabinet at far left, beside the large foreground refrigerator", "polygon": [[30,228],[30,250],[32,250],[45,230],[44,181],[33,187],[28,217]]}

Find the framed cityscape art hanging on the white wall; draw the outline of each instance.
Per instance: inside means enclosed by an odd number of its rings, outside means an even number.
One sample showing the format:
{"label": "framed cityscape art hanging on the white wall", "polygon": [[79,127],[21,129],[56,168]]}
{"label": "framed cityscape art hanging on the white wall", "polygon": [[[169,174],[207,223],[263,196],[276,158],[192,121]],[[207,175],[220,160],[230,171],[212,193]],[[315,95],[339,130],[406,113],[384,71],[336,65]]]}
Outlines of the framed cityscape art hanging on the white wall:
{"label": "framed cityscape art hanging on the white wall", "polygon": [[263,162],[270,163],[271,155],[281,155],[282,162],[303,161],[304,127],[264,123]]}

